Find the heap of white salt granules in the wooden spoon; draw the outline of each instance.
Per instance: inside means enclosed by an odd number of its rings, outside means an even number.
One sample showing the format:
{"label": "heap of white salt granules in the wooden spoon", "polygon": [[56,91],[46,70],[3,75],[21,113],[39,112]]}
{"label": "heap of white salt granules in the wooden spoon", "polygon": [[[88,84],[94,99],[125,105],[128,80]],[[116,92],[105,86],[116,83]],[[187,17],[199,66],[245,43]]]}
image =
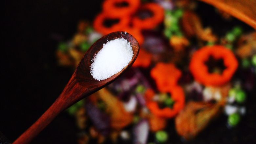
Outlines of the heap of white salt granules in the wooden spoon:
{"label": "heap of white salt granules in the wooden spoon", "polygon": [[96,80],[107,79],[126,67],[132,57],[131,43],[126,39],[108,41],[92,60],[91,74]]}

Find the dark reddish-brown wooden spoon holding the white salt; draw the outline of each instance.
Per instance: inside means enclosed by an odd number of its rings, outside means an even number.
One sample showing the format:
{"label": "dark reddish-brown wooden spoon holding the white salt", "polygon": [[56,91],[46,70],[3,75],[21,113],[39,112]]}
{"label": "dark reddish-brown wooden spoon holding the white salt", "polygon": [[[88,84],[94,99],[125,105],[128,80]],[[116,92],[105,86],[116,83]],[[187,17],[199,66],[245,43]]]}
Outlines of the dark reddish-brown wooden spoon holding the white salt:
{"label": "dark reddish-brown wooden spoon holding the white salt", "polygon": [[[124,38],[131,42],[134,54],[133,58],[130,63],[120,72],[116,73],[110,78],[98,81],[94,79],[90,73],[90,66],[92,63],[91,60],[94,58],[94,55],[102,49],[104,43],[117,38]],[[117,77],[120,76],[120,74],[122,74],[133,64],[138,54],[139,43],[129,33],[117,31],[107,34],[97,40],[85,53],[82,60],[78,64],[74,74],[71,76],[68,84],[64,88],[63,92],[52,104],[52,106],[26,132],[24,132],[18,139],[16,139],[13,144],[29,143],[58,115],[58,113],[70,107],[72,104],[81,100],[82,98],[89,96],[92,93],[95,93],[96,91],[116,80]]]}

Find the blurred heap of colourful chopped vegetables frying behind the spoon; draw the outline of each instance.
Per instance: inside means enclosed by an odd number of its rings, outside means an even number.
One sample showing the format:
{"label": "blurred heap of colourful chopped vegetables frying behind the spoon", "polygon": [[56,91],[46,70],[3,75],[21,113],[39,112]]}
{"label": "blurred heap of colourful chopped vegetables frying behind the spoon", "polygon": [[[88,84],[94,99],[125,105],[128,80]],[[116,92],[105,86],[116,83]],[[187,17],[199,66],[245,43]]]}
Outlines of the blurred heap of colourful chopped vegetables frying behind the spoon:
{"label": "blurred heap of colourful chopped vegetables frying behind the spoon", "polygon": [[128,72],[68,109],[82,131],[78,143],[171,143],[170,128],[189,141],[220,115],[231,129],[243,121],[255,89],[255,31],[234,26],[217,34],[196,7],[105,0],[94,22],[81,21],[74,38],[60,42],[58,62],[72,68],[104,34],[127,31],[140,44]]}

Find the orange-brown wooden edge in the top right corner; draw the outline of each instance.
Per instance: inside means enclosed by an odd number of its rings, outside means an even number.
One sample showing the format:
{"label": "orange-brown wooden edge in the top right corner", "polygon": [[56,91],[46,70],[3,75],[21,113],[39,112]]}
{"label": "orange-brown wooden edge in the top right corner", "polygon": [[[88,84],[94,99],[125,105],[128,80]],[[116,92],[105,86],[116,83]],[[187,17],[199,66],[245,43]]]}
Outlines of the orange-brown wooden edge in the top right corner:
{"label": "orange-brown wooden edge in the top right corner", "polygon": [[256,0],[200,0],[240,19],[256,29]]}

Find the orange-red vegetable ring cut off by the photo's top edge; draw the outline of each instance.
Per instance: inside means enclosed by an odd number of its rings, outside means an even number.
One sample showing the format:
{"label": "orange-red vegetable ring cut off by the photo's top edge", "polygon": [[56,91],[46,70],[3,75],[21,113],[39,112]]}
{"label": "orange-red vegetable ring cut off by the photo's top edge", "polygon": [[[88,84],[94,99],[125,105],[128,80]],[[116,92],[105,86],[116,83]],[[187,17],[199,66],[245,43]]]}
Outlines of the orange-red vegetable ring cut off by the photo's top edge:
{"label": "orange-red vegetable ring cut off by the photo's top edge", "polygon": [[121,18],[134,14],[140,5],[140,0],[106,0],[103,11],[111,18]]}

